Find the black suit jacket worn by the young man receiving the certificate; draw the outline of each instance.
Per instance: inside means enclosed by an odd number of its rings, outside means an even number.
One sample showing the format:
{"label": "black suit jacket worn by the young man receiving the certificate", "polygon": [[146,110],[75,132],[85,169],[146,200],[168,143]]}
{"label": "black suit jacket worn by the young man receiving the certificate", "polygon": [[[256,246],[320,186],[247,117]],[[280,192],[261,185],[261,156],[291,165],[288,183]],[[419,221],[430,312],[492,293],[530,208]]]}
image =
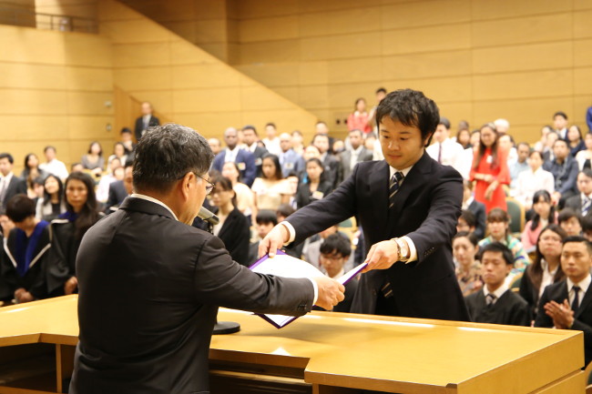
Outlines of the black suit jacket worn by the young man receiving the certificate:
{"label": "black suit jacket worn by the young man receiving the certificate", "polygon": [[463,178],[453,167],[439,165],[424,153],[405,177],[390,212],[388,188],[385,161],[358,164],[329,196],[291,215],[288,221],[296,229],[295,242],[352,216],[360,219],[366,253],[377,242],[410,237],[417,260],[363,274],[352,312],[374,313],[378,294],[390,281],[400,316],[468,320],[451,248],[461,212]]}

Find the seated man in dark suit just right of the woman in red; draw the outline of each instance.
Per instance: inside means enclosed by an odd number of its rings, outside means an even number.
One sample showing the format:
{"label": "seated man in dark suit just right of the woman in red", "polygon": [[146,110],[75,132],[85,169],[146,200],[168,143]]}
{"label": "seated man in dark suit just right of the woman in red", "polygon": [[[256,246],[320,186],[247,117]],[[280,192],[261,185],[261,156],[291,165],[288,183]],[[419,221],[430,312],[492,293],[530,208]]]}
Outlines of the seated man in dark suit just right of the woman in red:
{"label": "seated man in dark suit just right of the woman in red", "polygon": [[547,161],[543,168],[553,174],[555,192],[553,200],[559,207],[563,207],[566,199],[577,194],[577,162],[569,156],[569,148],[564,139],[557,139],[553,145],[555,159]]}

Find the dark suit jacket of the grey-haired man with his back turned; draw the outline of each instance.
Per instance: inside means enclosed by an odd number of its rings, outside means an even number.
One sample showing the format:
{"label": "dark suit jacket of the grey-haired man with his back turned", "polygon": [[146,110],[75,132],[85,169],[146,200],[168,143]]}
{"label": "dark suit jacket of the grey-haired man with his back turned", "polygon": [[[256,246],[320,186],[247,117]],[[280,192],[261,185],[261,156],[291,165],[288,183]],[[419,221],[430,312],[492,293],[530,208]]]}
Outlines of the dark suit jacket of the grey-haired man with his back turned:
{"label": "dark suit jacket of the grey-haired man with his back turned", "polygon": [[309,279],[266,277],[219,237],[128,197],[77,256],[79,343],[70,393],[207,393],[218,306],[300,316]]}

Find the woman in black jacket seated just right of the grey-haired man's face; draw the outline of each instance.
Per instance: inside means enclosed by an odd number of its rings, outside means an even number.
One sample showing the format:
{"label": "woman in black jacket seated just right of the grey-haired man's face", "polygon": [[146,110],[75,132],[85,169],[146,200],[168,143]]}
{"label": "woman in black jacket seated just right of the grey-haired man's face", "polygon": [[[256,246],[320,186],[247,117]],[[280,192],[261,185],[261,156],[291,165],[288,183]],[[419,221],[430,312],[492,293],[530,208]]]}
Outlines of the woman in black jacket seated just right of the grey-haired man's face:
{"label": "woman in black jacket seated just right of the grey-haired man's face", "polygon": [[249,221],[237,208],[236,193],[232,189],[232,182],[227,177],[213,177],[211,183],[211,205],[217,207],[216,215],[219,224],[213,227],[213,233],[224,242],[230,257],[243,266],[250,266],[255,262],[249,261]]}

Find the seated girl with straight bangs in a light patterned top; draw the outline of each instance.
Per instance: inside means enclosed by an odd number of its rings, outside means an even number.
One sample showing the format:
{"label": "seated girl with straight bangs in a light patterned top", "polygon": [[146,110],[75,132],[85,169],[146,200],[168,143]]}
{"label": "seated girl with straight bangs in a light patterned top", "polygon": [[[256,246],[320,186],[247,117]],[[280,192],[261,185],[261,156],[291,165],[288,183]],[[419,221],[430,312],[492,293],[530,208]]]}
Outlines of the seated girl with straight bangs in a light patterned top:
{"label": "seated girl with straight bangs in a light patterned top", "polygon": [[[526,266],[530,264],[528,255],[522,246],[522,243],[508,234],[510,225],[510,217],[507,212],[500,208],[494,208],[487,215],[487,230],[489,237],[482,239],[479,242],[479,248],[483,250],[485,246],[499,242],[506,248],[510,249],[514,256],[515,272],[524,272]],[[481,262],[483,264],[483,261]]]}

